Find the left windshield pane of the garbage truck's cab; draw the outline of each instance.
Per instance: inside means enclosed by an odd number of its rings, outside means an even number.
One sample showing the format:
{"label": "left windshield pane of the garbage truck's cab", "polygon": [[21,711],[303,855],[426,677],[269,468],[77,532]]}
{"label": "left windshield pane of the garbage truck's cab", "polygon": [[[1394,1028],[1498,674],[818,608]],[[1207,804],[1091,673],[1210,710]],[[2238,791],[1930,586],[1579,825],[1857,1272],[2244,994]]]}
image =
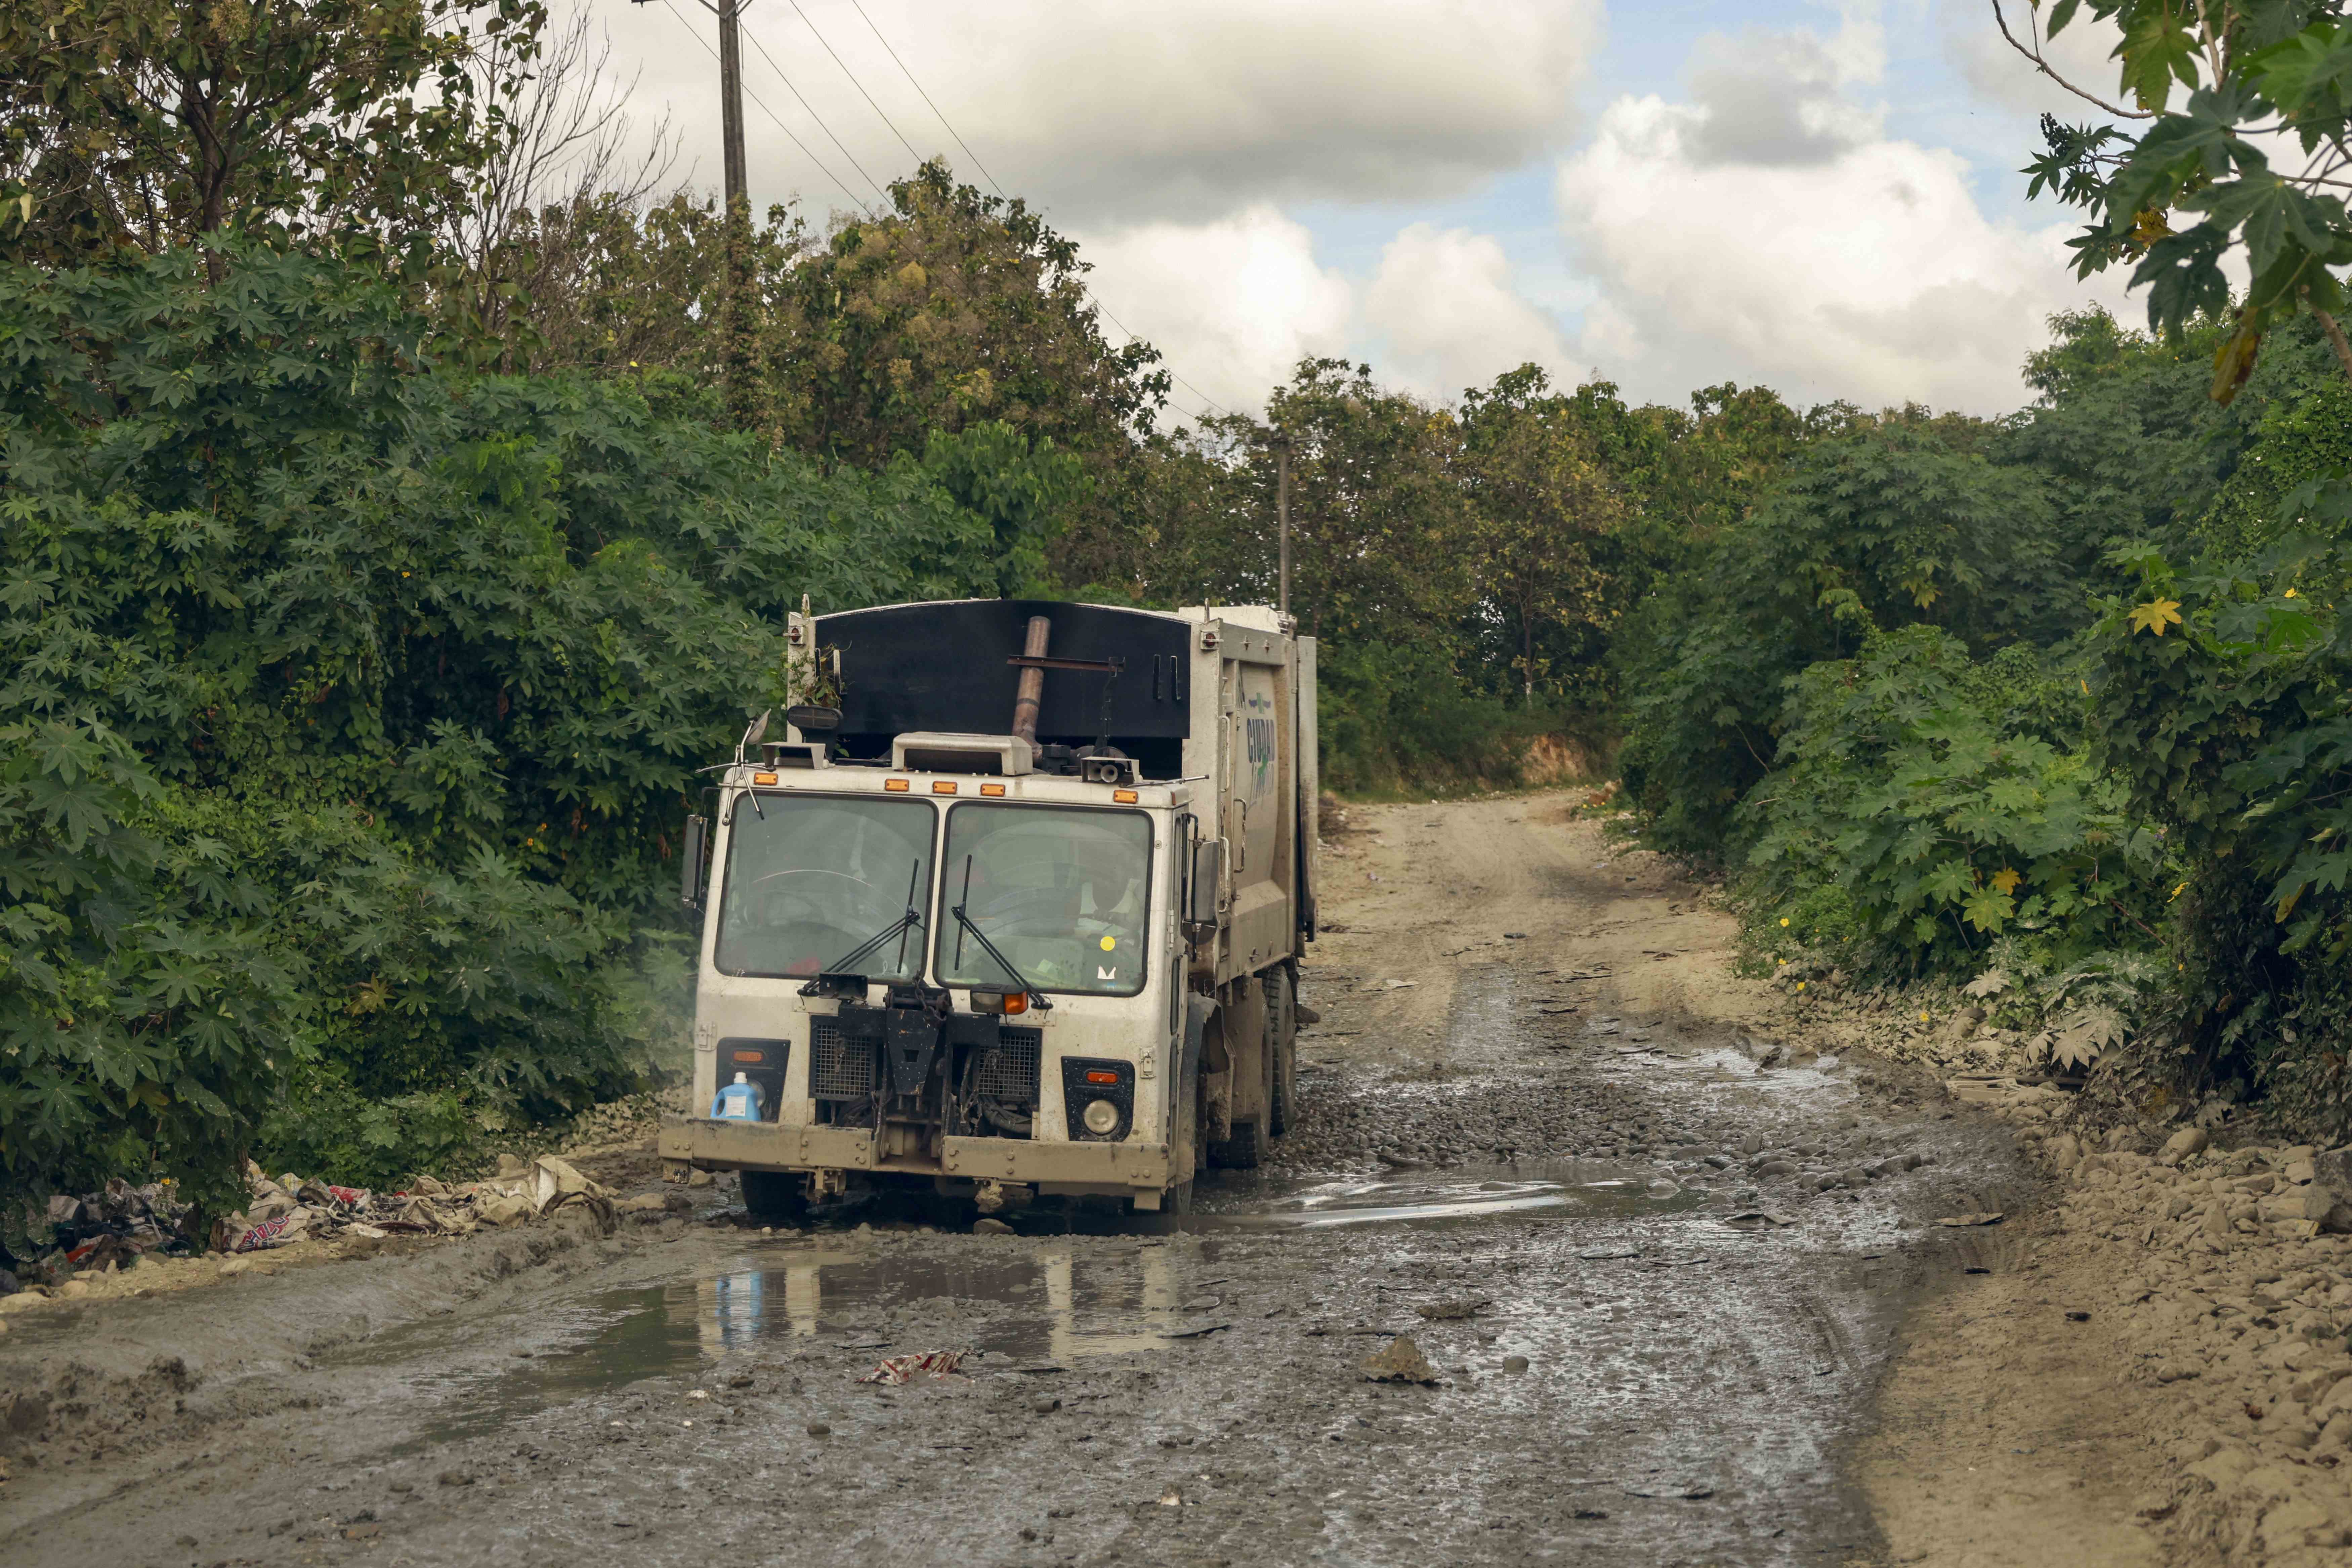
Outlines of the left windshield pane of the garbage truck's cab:
{"label": "left windshield pane of the garbage truck's cab", "polygon": [[[931,858],[931,806],[915,799],[762,795],[727,832],[727,884],[713,961],[729,976],[814,976],[906,914],[915,867]],[[915,882],[929,907],[929,877]],[[913,980],[922,931],[858,961],[873,980]]]}

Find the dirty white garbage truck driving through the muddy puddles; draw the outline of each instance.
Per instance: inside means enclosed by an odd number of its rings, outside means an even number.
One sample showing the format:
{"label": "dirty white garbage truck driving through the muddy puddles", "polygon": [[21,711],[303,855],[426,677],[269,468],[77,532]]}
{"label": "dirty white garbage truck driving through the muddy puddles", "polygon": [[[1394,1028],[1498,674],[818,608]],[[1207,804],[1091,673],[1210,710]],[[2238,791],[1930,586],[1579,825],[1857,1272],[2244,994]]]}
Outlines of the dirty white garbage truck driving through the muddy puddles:
{"label": "dirty white garbage truck driving through the muddy puddles", "polygon": [[[786,628],[682,835],[696,1110],[760,1218],[877,1187],[1183,1213],[1298,1105],[1315,639],[1263,607],[889,604]],[[757,1093],[722,1093],[736,1077]]]}

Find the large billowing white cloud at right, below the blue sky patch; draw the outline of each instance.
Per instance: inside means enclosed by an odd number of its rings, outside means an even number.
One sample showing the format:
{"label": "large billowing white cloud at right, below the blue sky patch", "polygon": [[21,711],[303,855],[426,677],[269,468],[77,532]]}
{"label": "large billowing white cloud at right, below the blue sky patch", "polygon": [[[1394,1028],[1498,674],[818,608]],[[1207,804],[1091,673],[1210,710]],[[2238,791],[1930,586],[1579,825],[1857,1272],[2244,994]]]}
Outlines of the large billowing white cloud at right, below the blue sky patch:
{"label": "large billowing white cloud at right, below the blue sky patch", "polygon": [[[1700,110],[1618,99],[1559,169],[1571,244],[1602,287],[1583,353],[1630,390],[1764,381],[1799,400],[2018,407],[2044,317],[2091,294],[2067,226],[1983,216],[1969,165],[1867,141],[1809,165],[1715,165]],[[2119,280],[2100,294],[2119,303]]]}

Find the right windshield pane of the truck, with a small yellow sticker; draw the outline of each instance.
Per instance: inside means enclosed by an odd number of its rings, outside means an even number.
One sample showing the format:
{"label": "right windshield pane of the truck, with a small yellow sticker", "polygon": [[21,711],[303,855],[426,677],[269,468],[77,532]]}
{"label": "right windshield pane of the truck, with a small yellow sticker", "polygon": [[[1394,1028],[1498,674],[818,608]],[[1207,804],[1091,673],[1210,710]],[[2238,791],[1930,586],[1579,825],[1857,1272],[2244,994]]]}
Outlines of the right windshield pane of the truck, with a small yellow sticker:
{"label": "right windshield pane of the truck, with a small yellow sticker", "polygon": [[[941,910],[962,903],[1037,990],[1131,997],[1143,990],[1150,863],[1152,823],[1141,811],[955,806]],[[950,914],[936,943],[946,985],[1014,980]]]}

